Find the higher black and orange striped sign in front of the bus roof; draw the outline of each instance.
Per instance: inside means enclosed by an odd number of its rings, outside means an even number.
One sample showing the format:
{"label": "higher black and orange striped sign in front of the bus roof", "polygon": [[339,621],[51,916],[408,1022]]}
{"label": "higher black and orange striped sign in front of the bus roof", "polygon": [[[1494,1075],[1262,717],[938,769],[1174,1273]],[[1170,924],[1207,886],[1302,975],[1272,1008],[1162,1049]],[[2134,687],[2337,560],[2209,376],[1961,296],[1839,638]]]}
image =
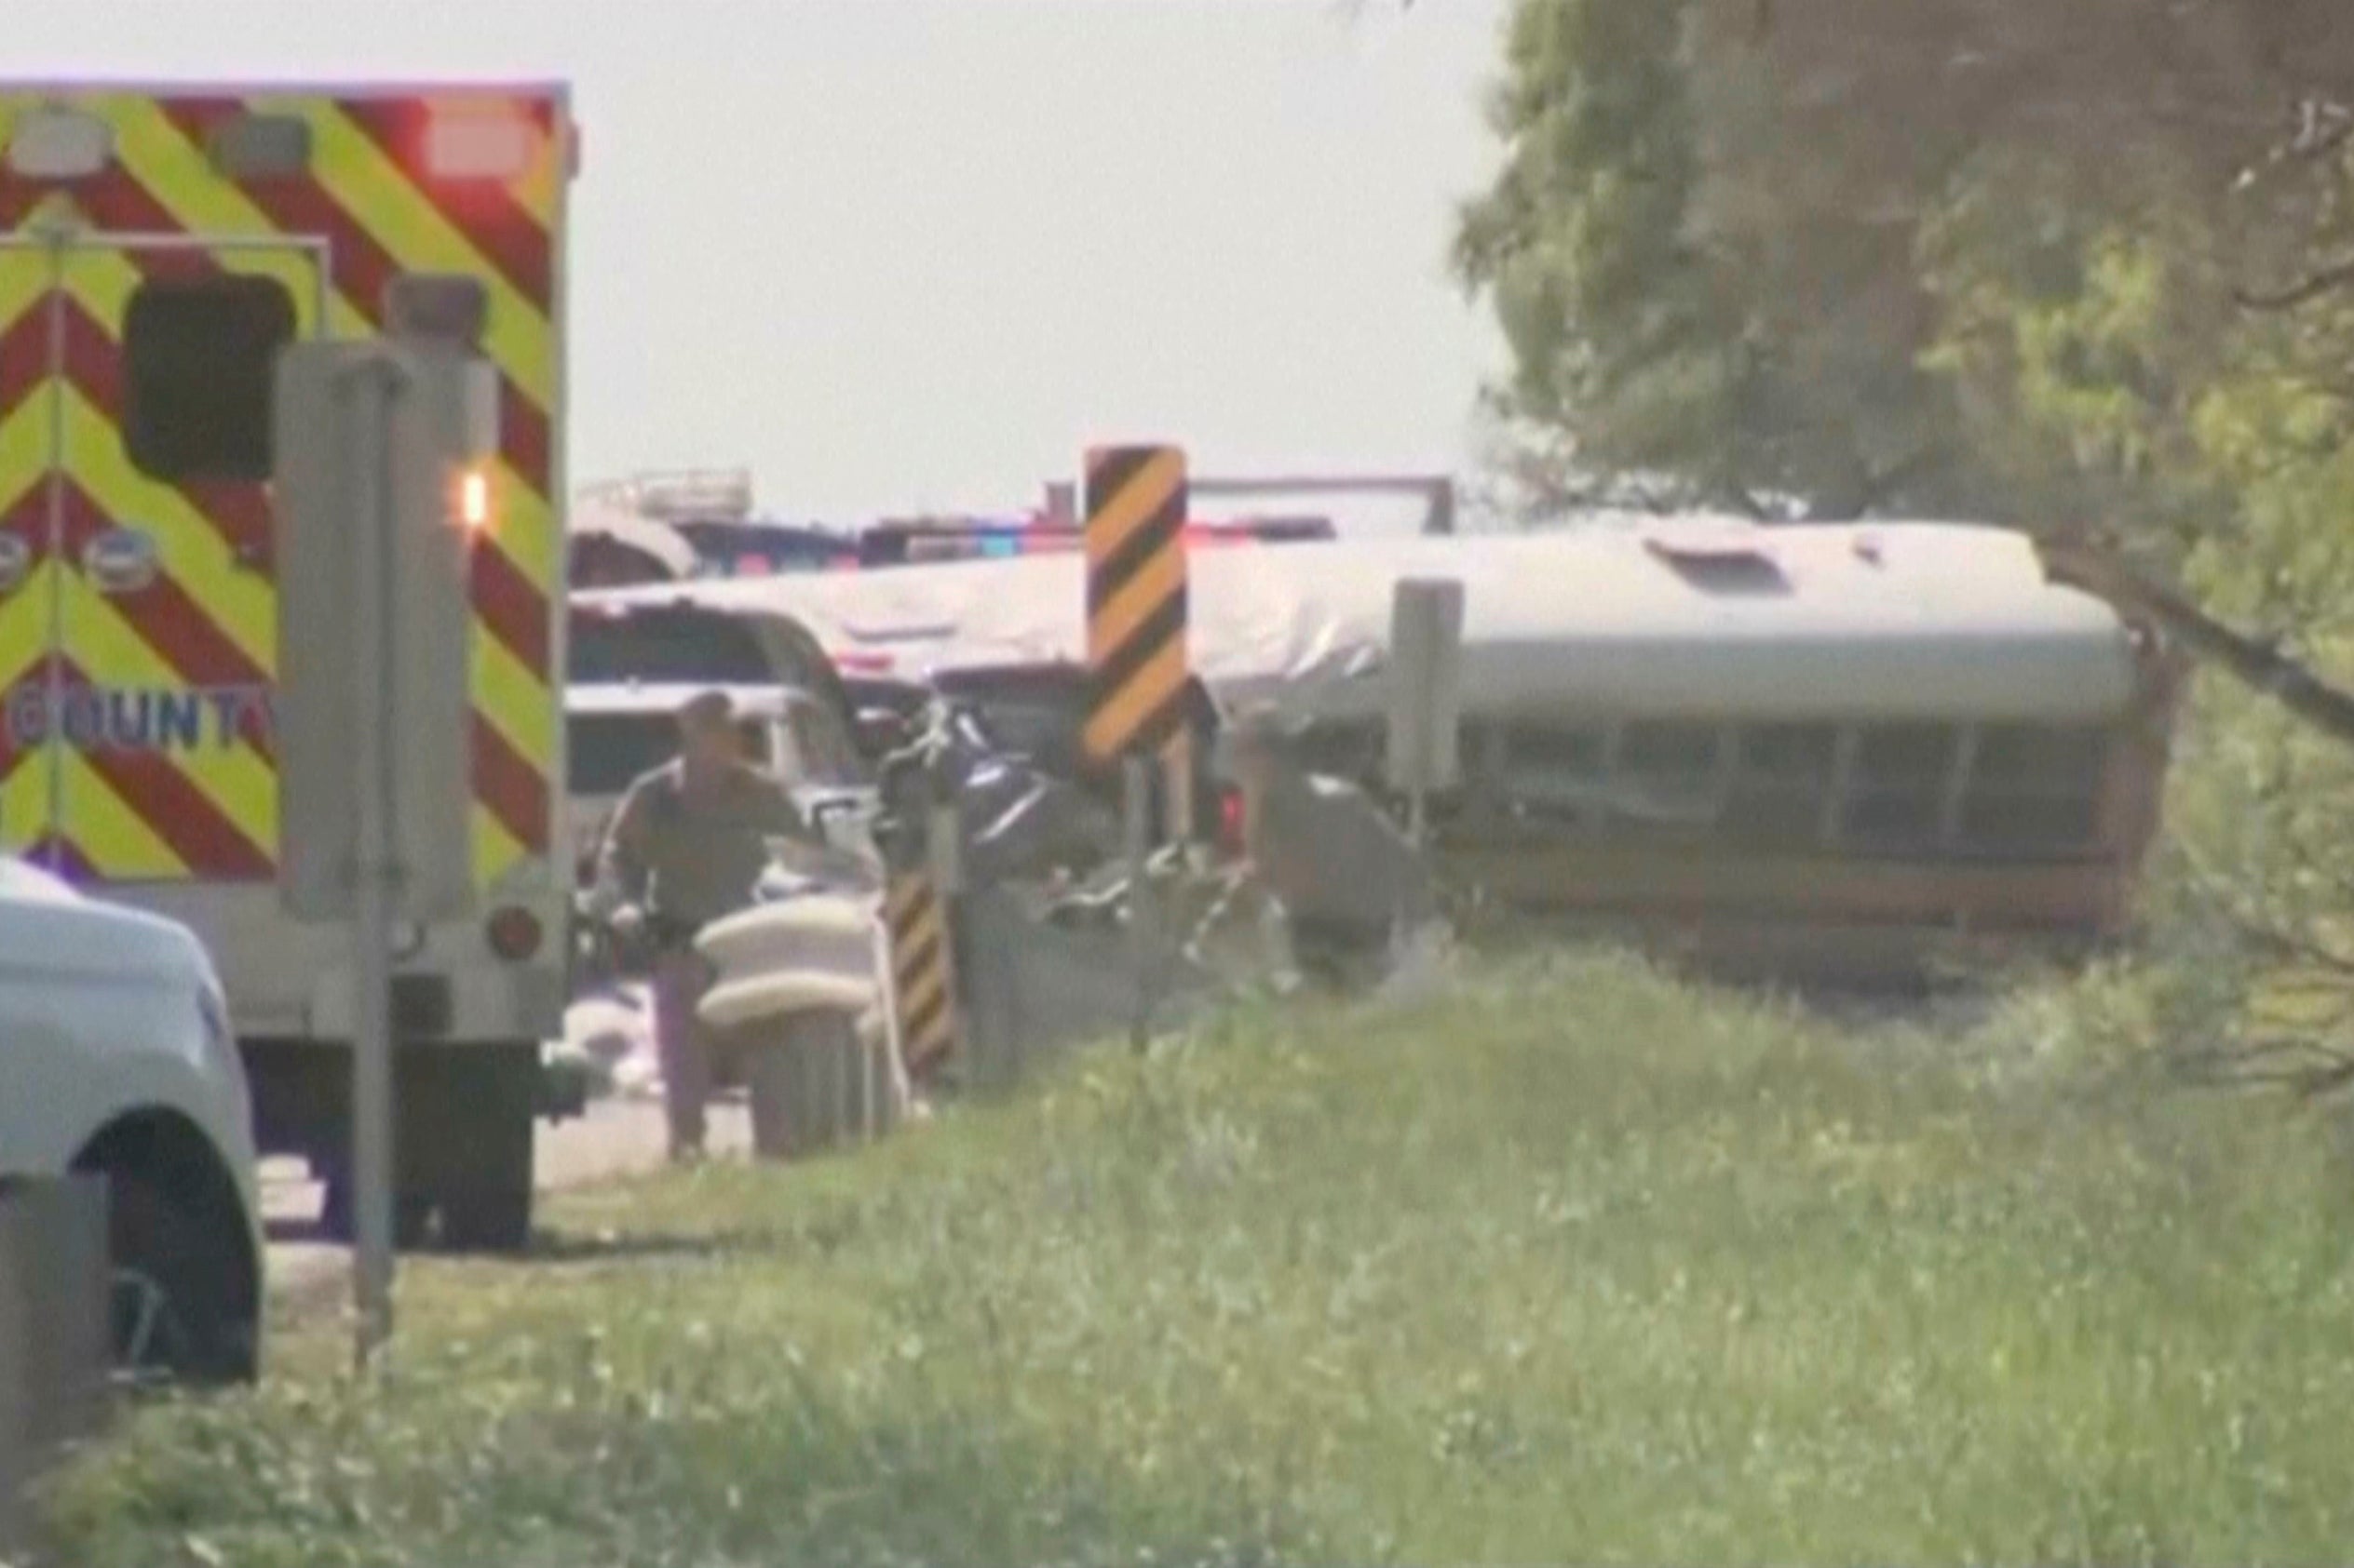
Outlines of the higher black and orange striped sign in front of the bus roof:
{"label": "higher black and orange striped sign in front of the bus roof", "polygon": [[1158,755],[1186,701],[1184,451],[1097,447],[1085,503],[1088,755]]}

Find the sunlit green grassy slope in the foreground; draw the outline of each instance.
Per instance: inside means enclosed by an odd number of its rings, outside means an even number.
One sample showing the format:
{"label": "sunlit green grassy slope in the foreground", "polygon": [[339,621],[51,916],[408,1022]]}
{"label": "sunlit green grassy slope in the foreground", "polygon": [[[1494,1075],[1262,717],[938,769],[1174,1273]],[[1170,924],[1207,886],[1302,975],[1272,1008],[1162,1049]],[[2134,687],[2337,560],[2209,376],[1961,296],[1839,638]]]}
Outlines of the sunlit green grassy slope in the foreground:
{"label": "sunlit green grassy slope in the foreground", "polygon": [[2354,1542],[2326,1126],[1610,959],[553,1208],[56,1497],[73,1563],[2267,1563]]}

